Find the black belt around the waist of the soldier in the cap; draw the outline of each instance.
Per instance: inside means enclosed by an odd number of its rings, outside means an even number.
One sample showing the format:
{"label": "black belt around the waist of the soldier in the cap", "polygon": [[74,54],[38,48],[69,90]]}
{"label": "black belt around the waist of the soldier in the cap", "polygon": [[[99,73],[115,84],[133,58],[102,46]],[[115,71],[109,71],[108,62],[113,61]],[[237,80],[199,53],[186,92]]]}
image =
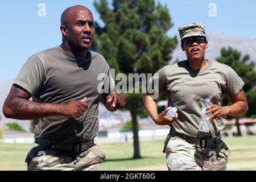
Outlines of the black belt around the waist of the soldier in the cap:
{"label": "black belt around the waist of the soldier in the cap", "polygon": [[196,137],[189,137],[188,135],[177,133],[176,131],[172,130],[171,137],[177,137],[185,140],[188,143],[196,144],[197,146],[205,148],[205,147],[211,147],[213,144],[215,144],[217,140],[220,139],[220,133],[216,137],[196,138]]}

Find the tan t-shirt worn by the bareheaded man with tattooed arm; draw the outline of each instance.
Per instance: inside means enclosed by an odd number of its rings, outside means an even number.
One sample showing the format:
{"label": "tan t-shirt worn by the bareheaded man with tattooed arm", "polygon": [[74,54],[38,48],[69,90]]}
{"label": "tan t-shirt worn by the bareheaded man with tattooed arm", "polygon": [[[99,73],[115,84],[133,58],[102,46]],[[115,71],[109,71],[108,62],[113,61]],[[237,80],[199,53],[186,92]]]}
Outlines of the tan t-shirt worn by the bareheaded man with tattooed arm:
{"label": "tan t-shirt worn by the bareheaded man with tattooed arm", "polygon": [[[14,84],[32,94],[41,103],[64,104],[87,97],[88,110],[79,118],[54,116],[36,119],[36,138],[72,143],[88,141],[98,132],[99,74],[110,76],[110,89],[115,87],[108,63],[103,56],[88,51],[74,57],[61,47],[32,55],[24,64]],[[105,79],[105,78],[104,78]],[[108,80],[108,79],[105,79]]]}

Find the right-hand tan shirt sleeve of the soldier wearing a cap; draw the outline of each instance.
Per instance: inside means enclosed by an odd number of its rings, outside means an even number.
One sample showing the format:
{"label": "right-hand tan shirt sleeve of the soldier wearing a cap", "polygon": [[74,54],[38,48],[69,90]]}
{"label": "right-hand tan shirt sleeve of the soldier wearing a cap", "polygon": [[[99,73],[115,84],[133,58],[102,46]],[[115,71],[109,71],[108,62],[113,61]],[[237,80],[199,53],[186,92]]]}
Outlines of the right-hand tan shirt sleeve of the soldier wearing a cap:
{"label": "right-hand tan shirt sleeve of the soldier wearing a cap", "polygon": [[228,67],[226,69],[226,94],[229,96],[236,96],[245,85],[245,82],[237,75],[234,69]]}

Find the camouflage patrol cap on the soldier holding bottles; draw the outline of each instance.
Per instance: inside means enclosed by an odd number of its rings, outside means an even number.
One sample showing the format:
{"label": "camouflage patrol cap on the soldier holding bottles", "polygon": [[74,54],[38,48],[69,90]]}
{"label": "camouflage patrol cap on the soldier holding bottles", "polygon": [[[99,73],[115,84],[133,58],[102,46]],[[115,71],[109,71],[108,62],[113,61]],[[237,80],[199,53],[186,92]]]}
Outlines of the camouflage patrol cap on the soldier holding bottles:
{"label": "camouflage patrol cap on the soldier holding bottles", "polygon": [[203,23],[183,24],[178,30],[181,40],[189,36],[205,36],[205,25]]}

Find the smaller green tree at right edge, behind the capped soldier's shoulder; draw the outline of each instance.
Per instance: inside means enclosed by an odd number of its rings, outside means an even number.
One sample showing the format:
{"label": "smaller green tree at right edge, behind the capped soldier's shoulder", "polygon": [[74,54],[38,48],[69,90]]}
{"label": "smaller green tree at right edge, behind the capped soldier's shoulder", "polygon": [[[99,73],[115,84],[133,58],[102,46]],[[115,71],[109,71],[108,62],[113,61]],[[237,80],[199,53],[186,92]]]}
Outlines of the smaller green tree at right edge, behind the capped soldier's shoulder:
{"label": "smaller green tree at right edge, behind the capped soldier's shoulder", "polygon": [[[229,65],[231,68],[236,71],[236,73],[242,78],[245,82],[243,86],[243,90],[248,96],[248,105],[249,111],[246,113],[247,117],[253,117],[255,115],[255,110],[251,110],[255,108],[255,85],[256,85],[256,72],[254,71],[255,63],[250,60],[249,55],[245,55],[242,57],[241,52],[233,49],[232,47],[222,48],[221,49],[221,56],[217,57],[216,59],[220,63],[224,63]],[[254,101],[252,100],[254,98]],[[227,96],[224,97],[223,101],[224,105],[230,105],[232,102],[229,100]],[[244,117],[245,115],[241,116]],[[241,118],[240,117],[240,118]],[[231,118],[231,117],[229,117]],[[239,118],[236,118],[236,125],[237,125],[237,135],[241,136],[241,130],[239,125]]]}

